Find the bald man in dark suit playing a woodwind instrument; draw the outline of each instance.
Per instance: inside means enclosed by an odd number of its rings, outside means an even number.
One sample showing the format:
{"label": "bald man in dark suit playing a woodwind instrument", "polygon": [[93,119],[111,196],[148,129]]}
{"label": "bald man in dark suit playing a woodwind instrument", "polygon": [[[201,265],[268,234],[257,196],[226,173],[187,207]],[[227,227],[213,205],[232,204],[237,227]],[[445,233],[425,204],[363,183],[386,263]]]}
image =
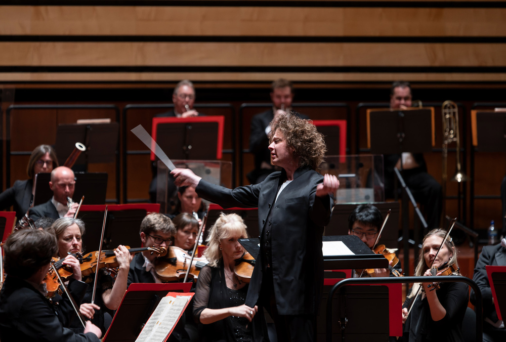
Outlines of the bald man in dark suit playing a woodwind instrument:
{"label": "bald man in dark suit playing a woodwind instrument", "polygon": [[53,169],[49,187],[53,191],[53,197],[46,203],[31,208],[28,212],[30,219],[36,221],[42,217],[55,220],[63,217],[74,217],[79,203],[73,203],[70,208],[67,206],[67,197],[72,198],[74,195],[74,172],[66,166]]}

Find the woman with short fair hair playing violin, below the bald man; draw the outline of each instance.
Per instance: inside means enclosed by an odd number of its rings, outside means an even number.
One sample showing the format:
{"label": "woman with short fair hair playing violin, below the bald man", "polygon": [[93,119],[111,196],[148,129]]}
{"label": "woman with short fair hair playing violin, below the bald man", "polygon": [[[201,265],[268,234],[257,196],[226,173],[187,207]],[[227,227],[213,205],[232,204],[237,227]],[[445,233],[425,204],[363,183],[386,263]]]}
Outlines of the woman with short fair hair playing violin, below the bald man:
{"label": "woman with short fair hair playing violin, below the bald man", "polygon": [[[69,258],[68,253],[77,253],[82,251],[82,235],[85,234],[85,224],[79,219],[61,218],[56,220],[49,228],[58,242],[57,256],[59,258]],[[130,268],[132,256],[126,247],[119,245],[114,250],[119,268],[116,279],[113,280],[105,268],[99,268],[99,277],[97,281],[95,304],[91,304],[93,294],[93,281],[95,274],[83,278],[83,281],[90,284],[82,304],[79,307],[81,315],[90,318],[92,322],[100,327],[102,333],[107,329],[104,326],[104,311],[109,313],[116,310],[121,303],[123,294],[126,291],[126,279]],[[82,330],[82,326],[76,320],[70,327],[74,331]]]}

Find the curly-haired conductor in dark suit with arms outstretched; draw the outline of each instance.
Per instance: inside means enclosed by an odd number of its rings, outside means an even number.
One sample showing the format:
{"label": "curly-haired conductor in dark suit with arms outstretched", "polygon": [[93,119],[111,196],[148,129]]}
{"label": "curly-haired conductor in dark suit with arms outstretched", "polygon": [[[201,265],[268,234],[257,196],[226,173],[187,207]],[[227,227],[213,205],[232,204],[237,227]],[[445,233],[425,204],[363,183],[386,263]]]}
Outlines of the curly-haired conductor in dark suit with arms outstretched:
{"label": "curly-haired conductor in dark suit with arms outstretched", "polygon": [[323,228],[339,181],[316,172],[326,146],[312,123],[285,113],[271,127],[272,163],[282,169],[260,184],[231,190],[189,169],[175,169],[172,175],[177,185],[194,186],[202,198],[225,208],[258,207],[260,252],[245,304],[267,308],[278,341],[312,341],[323,285]]}

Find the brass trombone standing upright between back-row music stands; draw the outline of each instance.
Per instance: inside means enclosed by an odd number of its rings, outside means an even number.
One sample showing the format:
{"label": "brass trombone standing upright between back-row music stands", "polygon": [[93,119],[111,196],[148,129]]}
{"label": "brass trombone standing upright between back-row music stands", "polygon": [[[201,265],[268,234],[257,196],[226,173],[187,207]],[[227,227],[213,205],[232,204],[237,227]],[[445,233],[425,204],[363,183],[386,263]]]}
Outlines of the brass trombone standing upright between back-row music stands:
{"label": "brass trombone standing upright between back-row music stands", "polygon": [[441,106],[441,114],[443,119],[443,217],[445,215],[445,198],[446,198],[446,181],[447,181],[447,164],[448,164],[448,144],[456,142],[457,155],[456,155],[456,170],[455,175],[451,178],[454,182],[467,182],[469,178],[462,171],[460,166],[460,136],[458,129],[458,109],[453,101],[445,101]]}

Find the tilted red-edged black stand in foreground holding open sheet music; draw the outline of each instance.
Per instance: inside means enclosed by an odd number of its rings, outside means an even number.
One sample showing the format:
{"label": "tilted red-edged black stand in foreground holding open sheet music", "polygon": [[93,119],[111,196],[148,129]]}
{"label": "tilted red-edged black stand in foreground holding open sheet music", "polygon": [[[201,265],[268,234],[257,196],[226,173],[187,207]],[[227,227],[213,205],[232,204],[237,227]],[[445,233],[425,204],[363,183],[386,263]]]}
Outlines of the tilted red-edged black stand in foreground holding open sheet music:
{"label": "tilted red-edged black stand in foreground holding open sheet music", "polygon": [[102,341],[166,341],[193,297],[191,285],[130,284]]}

